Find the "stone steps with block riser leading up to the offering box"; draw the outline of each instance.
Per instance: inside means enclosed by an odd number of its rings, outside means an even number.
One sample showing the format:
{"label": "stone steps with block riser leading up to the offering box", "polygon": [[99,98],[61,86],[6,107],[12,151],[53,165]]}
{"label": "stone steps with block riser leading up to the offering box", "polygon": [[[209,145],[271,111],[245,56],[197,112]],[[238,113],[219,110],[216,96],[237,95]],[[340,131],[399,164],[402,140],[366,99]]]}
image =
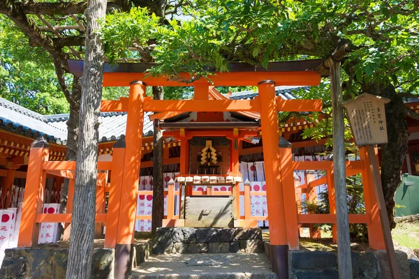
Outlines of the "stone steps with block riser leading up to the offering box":
{"label": "stone steps with block riser leading up to the offering box", "polygon": [[129,278],[275,279],[265,255],[262,232],[255,229],[161,228],[153,255]]}

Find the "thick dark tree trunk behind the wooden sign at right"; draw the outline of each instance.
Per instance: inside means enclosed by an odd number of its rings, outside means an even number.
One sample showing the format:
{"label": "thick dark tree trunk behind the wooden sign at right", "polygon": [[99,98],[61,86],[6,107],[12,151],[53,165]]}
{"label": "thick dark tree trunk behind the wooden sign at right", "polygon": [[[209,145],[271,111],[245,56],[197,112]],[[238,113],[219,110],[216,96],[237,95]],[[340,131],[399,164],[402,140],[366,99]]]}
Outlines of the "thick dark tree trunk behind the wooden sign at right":
{"label": "thick dark tree trunk behind the wooden sign at right", "polygon": [[402,183],[402,166],[408,151],[409,133],[407,131],[406,108],[402,97],[397,94],[394,86],[389,81],[381,84],[368,84],[365,86],[367,93],[390,99],[385,105],[385,119],[387,121],[388,144],[381,144],[381,182],[388,221],[392,229],[395,228],[394,220],[395,192]]}

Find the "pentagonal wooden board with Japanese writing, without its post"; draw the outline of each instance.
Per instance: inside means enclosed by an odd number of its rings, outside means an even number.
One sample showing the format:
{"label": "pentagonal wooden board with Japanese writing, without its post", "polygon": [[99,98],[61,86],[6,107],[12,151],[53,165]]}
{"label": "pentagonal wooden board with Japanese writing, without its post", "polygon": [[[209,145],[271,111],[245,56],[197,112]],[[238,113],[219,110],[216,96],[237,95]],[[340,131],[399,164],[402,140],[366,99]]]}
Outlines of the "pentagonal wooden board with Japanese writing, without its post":
{"label": "pentagonal wooden board with Japanese writing, without its post", "polygon": [[363,93],[354,100],[344,103],[351,130],[358,146],[386,144],[387,126],[384,105],[387,98]]}

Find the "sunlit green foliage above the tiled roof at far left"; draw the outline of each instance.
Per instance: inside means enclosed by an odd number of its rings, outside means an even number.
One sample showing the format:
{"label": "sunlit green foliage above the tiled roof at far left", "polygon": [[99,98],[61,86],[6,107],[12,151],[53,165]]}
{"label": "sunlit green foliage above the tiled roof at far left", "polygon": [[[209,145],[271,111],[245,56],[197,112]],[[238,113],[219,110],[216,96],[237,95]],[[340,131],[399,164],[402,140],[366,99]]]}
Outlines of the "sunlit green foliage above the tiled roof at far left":
{"label": "sunlit green foliage above the tiled roof at far left", "polygon": [[4,15],[0,15],[0,97],[41,114],[68,112],[50,56],[41,47],[29,47]]}

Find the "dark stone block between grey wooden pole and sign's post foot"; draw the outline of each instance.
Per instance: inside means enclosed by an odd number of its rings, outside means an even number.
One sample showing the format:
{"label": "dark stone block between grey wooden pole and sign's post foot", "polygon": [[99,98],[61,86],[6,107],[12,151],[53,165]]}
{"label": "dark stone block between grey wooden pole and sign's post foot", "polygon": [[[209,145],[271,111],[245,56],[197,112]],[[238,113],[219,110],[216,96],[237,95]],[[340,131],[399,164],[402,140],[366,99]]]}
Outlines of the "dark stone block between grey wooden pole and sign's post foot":
{"label": "dark stone block between grey wooden pole and sign's post foot", "polygon": [[381,271],[374,252],[352,252],[352,272],[354,279],[380,279]]}

